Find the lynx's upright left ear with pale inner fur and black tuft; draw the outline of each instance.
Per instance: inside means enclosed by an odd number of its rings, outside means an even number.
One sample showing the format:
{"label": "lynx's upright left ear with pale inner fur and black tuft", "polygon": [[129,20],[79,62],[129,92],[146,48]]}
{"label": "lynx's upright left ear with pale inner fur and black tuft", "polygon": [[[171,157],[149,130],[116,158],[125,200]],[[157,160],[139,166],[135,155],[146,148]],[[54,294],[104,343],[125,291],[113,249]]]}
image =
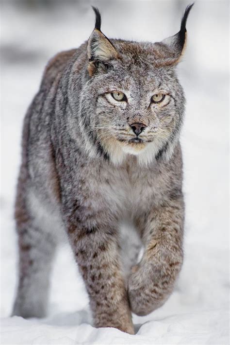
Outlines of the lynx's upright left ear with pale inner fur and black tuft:
{"label": "lynx's upright left ear with pale inner fur and black tuft", "polygon": [[[93,6],[92,6],[93,7]],[[96,15],[95,28],[89,37],[87,44],[87,55],[89,59],[89,75],[93,75],[96,65],[99,62],[108,62],[118,57],[118,53],[110,40],[100,31],[101,17],[98,8],[93,7]]]}

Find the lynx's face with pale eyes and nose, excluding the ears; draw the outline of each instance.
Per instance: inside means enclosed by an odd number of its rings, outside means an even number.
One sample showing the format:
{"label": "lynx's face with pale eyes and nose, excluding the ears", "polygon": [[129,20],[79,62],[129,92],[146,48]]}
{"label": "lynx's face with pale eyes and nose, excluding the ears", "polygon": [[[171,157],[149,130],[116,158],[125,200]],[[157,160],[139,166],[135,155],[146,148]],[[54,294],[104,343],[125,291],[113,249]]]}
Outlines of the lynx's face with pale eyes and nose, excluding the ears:
{"label": "lynx's face with pale eyes and nose, excluding the ears", "polygon": [[[146,55],[143,49],[143,60]],[[92,85],[99,91],[95,130],[104,145],[113,140],[137,155],[150,145],[159,148],[181,122],[183,92],[170,67],[156,68],[149,59],[127,66],[124,57],[96,75]]]}

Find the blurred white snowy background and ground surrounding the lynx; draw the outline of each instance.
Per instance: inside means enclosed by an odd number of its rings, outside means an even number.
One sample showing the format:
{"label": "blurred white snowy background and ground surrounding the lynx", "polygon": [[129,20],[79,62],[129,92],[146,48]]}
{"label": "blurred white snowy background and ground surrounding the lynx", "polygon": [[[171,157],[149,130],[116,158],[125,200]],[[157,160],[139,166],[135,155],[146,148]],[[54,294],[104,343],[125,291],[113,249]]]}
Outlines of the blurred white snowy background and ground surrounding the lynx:
{"label": "blurred white snowy background and ground surrounding the lynx", "polygon": [[1,344],[229,344],[229,1],[197,0],[178,67],[187,96],[181,137],[185,260],[164,307],[133,317],[137,334],[91,326],[70,248],[57,253],[43,320],[10,318],[16,289],[13,205],[22,121],[48,59],[78,47],[99,7],[108,37],[159,41],[179,31],[188,1],[1,0]]}

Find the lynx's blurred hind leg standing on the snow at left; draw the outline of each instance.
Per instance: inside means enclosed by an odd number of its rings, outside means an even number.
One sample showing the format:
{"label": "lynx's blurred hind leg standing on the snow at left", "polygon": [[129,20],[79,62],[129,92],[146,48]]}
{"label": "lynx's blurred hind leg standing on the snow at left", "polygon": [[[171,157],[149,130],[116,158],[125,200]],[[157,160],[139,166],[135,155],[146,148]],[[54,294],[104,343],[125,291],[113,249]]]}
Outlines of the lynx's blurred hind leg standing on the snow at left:
{"label": "lynx's blurred hind leg standing on the snow at left", "polygon": [[16,225],[19,272],[12,315],[25,318],[44,317],[48,305],[49,276],[56,241],[51,236],[50,229],[46,227],[48,224],[44,219],[34,217],[24,203],[16,203]]}

